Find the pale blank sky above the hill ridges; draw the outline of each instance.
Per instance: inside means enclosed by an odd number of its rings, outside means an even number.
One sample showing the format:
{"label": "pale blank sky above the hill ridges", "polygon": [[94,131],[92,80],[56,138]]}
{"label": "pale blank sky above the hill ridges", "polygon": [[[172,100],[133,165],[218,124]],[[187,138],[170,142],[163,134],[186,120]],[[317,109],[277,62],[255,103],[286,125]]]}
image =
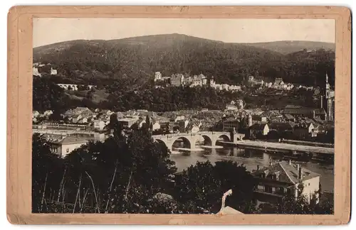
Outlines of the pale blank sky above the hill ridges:
{"label": "pale blank sky above the hill ridges", "polygon": [[333,19],[33,18],[33,47],[182,33],[226,43],[312,40],[335,43]]}

